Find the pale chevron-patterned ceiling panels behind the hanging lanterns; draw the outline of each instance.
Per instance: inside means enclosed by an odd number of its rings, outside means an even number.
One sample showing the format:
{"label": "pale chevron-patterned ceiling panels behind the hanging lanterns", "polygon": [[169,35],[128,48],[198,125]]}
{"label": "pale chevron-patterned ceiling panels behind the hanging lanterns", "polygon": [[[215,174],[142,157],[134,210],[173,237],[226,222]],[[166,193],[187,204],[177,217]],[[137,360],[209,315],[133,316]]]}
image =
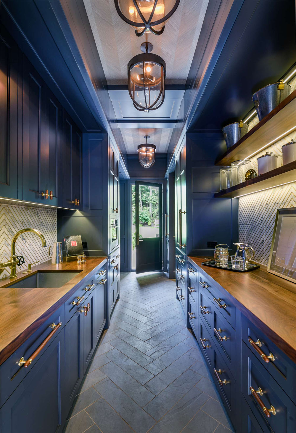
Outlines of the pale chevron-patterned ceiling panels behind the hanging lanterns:
{"label": "pale chevron-patterned ceiling panels behind the hanging lanterns", "polygon": [[[166,62],[165,83],[185,84],[208,2],[209,0],[181,0],[161,36],[149,33],[138,38],[134,29],[118,16],[114,0],[84,0],[108,85],[127,84],[127,64],[134,55],[141,53],[140,45],[146,40],[153,44],[153,52]],[[174,117],[179,110],[183,93],[180,94],[179,90],[175,97],[174,94],[167,93],[172,103],[164,105],[167,108],[163,107],[161,116],[158,115],[158,110],[151,112],[156,123],[153,124],[153,129],[152,125],[149,128],[149,124],[145,124],[143,113],[131,107],[130,103],[126,104],[126,112],[122,110],[122,104],[119,109],[120,98],[117,91],[109,94],[117,120],[121,122],[118,127],[122,128],[127,152],[137,152],[138,144],[144,141],[143,136],[150,135],[149,141],[157,146],[157,152],[166,153],[174,128]],[[120,113],[120,116],[117,113]],[[147,119],[151,119],[151,113],[147,113]],[[165,124],[167,120],[170,120],[171,125]]]}

